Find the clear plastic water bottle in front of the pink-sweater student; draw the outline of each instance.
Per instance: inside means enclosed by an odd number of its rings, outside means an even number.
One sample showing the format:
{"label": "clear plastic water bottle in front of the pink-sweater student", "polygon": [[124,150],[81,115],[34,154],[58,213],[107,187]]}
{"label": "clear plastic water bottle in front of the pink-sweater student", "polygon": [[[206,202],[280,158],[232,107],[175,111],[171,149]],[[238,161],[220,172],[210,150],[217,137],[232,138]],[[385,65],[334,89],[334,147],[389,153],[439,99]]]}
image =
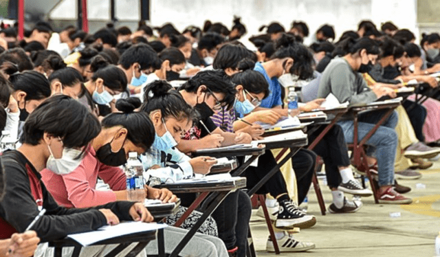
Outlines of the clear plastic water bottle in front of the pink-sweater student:
{"label": "clear plastic water bottle in front of the pink-sweater student", "polygon": [[129,153],[129,159],[126,160],[124,168],[126,175],[126,197],[129,201],[144,202],[146,197],[144,182],[144,166],[137,159],[137,153]]}

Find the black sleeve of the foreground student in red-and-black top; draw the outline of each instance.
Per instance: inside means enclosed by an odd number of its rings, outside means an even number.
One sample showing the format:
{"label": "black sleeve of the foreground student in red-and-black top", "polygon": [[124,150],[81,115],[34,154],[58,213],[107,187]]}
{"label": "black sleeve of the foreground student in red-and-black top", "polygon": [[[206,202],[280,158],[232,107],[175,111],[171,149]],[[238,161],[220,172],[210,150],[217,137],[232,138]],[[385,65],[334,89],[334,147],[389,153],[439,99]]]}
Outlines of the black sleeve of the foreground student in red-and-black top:
{"label": "black sleeve of the foreground student in red-and-black top", "polygon": [[[32,196],[30,182],[23,167],[3,163],[6,174],[6,192],[0,203],[0,214],[19,233],[39,214],[39,208]],[[47,210],[32,227],[42,242],[64,238],[67,234],[96,230],[107,224],[107,219],[99,210],[81,210],[82,213],[69,214],[66,208],[56,204],[43,183],[43,208]],[[60,215],[61,214],[61,215]]]}

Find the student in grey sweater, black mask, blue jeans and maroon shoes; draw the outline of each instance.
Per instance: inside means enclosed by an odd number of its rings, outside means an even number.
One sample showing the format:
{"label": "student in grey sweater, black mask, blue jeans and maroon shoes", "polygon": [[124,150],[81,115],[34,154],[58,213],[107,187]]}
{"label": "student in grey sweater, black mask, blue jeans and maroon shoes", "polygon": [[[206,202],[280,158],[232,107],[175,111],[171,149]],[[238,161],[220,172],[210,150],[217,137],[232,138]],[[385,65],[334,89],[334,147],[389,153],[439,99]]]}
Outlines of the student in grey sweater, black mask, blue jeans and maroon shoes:
{"label": "student in grey sweater, black mask, blue jeans and maroon shoes", "polygon": [[[368,64],[373,63],[379,53],[379,47],[370,38],[354,40],[347,38],[342,43],[342,50],[346,53],[342,58],[331,60],[320,81],[318,97],[325,98],[333,93],[339,102],[349,101],[351,104],[369,103],[385,95],[395,97],[395,92],[386,87],[367,87],[366,82],[358,72],[367,72]],[[341,79],[344,78],[344,79]],[[362,138],[380,120],[383,112],[369,112],[359,116],[359,137]],[[353,142],[353,121],[343,120],[338,122],[344,132],[345,141]],[[393,113],[382,126],[377,129],[367,144],[375,146],[376,159],[379,172],[377,181],[380,188],[377,190],[377,199],[380,203],[411,203],[393,189],[394,160],[397,147],[395,126],[397,114]],[[373,153],[369,151],[369,156]],[[373,162],[370,160],[370,162]]]}

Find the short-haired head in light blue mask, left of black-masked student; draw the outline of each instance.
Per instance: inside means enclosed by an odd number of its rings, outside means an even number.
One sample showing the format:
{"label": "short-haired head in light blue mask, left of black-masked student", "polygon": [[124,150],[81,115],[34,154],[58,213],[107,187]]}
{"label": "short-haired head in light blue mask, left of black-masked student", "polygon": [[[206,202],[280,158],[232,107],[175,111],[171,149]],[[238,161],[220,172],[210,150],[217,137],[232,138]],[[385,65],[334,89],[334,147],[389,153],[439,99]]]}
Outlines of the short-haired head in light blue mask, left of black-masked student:
{"label": "short-haired head in light blue mask, left of black-masked student", "polygon": [[[161,63],[151,46],[139,43],[126,49],[119,59],[118,67],[124,71],[126,81],[131,85],[133,80],[141,78],[142,72],[151,74],[155,69],[160,69]],[[129,89],[131,93],[141,93],[140,87],[129,86]]]}

